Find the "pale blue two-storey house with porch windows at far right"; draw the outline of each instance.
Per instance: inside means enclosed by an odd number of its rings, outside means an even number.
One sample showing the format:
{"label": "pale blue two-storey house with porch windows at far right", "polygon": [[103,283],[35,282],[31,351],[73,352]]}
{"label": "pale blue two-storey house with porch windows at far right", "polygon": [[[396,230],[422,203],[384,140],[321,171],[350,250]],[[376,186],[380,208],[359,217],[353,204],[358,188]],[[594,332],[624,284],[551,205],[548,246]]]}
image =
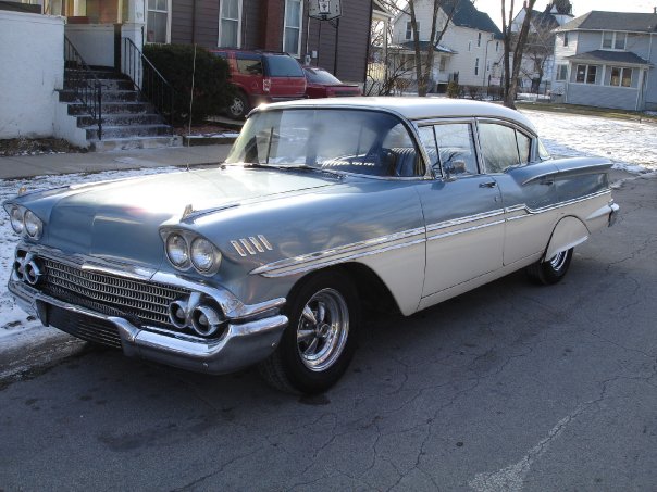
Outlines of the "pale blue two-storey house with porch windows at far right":
{"label": "pale blue two-storey house with porch windows at far right", "polygon": [[655,34],[655,11],[592,11],[558,27],[553,94],[570,104],[657,110]]}

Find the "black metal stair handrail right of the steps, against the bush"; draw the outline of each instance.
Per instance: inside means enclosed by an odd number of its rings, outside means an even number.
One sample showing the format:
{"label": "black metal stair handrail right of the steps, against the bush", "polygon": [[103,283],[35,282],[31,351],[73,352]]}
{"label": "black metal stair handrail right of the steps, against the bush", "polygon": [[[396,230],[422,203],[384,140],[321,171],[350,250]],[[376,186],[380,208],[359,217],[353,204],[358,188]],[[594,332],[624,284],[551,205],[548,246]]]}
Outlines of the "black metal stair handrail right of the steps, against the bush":
{"label": "black metal stair handrail right of the steps, against the bush", "polygon": [[169,122],[173,135],[173,102],[175,90],[131,38],[123,38],[122,70],[139,93]]}

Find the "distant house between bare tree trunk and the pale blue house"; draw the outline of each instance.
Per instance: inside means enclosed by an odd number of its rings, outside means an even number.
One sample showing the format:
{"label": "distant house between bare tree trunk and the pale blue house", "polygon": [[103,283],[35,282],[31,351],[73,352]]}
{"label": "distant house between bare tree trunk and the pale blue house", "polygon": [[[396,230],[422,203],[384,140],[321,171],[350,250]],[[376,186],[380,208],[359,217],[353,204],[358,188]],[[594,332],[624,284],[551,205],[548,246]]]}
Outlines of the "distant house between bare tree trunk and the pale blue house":
{"label": "distant house between bare tree trunk and the pale blue house", "polygon": [[[518,12],[511,22],[511,33],[520,33],[526,13],[528,7],[525,1],[520,12]],[[572,4],[569,0],[553,0],[546,5],[543,12],[532,10],[528,41],[520,65],[520,81],[518,86],[521,90],[538,92],[542,89],[547,89],[547,84],[553,79],[551,70],[555,59],[554,29],[573,18]]]}

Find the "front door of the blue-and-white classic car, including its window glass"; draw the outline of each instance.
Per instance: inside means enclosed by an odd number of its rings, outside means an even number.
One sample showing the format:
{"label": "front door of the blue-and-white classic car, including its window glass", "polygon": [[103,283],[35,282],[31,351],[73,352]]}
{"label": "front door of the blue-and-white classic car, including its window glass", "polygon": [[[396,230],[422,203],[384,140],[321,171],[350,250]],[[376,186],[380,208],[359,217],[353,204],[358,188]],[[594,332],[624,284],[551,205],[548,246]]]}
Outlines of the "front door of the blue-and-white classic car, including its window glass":
{"label": "front door of the blue-and-white classic car, including its window glass", "polygon": [[497,181],[480,171],[473,121],[421,126],[419,134],[437,176],[418,188],[426,298],[501,267],[504,209]]}

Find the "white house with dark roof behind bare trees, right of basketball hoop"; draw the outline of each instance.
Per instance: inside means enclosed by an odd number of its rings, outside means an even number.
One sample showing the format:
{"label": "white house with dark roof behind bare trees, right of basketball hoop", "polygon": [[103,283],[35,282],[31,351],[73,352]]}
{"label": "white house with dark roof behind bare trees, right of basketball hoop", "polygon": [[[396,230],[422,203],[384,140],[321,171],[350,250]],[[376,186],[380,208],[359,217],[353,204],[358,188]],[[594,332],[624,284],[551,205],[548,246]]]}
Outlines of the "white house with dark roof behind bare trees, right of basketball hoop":
{"label": "white house with dark roof behind bare trees, right of basketball hoop", "polygon": [[[456,7],[454,4],[456,2]],[[501,31],[488,14],[476,10],[471,0],[449,0],[443,2],[438,11],[438,28],[445,26],[453,8],[454,16],[447,29],[435,47],[434,67],[430,86],[444,91],[449,81],[460,85],[491,85],[500,66],[504,53]],[[398,51],[398,56],[407,61],[406,65],[414,66],[413,33],[410,15],[404,8],[393,20],[393,39],[391,49]],[[431,37],[433,0],[414,0],[416,17],[419,24],[420,46],[424,50]],[[399,61],[396,62],[399,65]],[[414,79],[414,72],[408,75]]]}

